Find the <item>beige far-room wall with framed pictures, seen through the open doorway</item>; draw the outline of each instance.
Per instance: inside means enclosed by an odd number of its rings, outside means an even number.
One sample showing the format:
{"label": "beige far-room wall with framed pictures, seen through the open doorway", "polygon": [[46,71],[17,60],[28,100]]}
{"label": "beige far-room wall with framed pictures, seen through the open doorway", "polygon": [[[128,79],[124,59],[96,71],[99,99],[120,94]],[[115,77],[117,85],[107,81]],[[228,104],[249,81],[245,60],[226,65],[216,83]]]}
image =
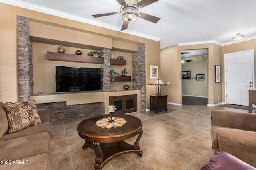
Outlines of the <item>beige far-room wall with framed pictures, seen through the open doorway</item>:
{"label": "beige far-room wall with framed pictures, seen through the open doorway", "polygon": [[[182,79],[182,95],[208,97],[208,55],[188,58],[193,60],[182,65],[182,71],[190,71],[193,79]],[[196,80],[196,74],[204,74],[204,80]]]}

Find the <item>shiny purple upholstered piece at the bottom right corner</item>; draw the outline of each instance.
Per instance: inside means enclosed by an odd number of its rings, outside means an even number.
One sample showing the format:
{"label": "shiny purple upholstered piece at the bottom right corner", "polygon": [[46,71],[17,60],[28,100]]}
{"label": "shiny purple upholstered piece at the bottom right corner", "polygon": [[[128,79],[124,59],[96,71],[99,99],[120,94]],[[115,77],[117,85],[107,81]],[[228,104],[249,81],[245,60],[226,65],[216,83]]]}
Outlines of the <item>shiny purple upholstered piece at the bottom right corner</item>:
{"label": "shiny purple upholstered piece at the bottom right corner", "polygon": [[227,152],[221,151],[198,170],[256,170],[256,168]]}

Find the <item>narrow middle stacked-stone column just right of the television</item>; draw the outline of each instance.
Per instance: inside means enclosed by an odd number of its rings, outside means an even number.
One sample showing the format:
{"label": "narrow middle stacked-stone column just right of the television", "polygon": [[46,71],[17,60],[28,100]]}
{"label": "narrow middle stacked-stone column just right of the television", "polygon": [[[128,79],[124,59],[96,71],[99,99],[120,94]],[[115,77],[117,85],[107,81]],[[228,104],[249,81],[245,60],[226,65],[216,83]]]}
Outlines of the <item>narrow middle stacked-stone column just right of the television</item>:
{"label": "narrow middle stacked-stone column just right of the television", "polygon": [[102,92],[110,91],[110,49],[103,49],[103,64],[101,64],[102,69]]}

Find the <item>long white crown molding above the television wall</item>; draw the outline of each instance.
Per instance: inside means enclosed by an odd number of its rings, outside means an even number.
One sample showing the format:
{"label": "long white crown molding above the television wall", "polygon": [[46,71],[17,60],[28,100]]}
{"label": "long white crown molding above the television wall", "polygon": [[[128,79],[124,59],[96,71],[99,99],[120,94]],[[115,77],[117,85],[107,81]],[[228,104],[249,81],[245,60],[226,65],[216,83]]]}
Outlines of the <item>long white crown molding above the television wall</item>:
{"label": "long white crown molding above the television wall", "polygon": [[135,36],[138,36],[138,37],[143,37],[143,38],[151,39],[151,40],[154,40],[154,41],[160,41],[161,40],[158,37],[146,35],[146,34],[139,33],[139,32],[136,32],[136,31],[131,31],[131,30],[128,30],[128,29],[126,29],[124,31],[120,31],[121,27],[116,27],[116,26],[113,26],[113,25],[110,25],[110,24],[107,24],[107,23],[102,23],[102,22],[90,20],[90,19],[87,19],[87,18],[82,18],[80,16],[75,16],[75,15],[68,14],[68,13],[65,13],[65,12],[60,12],[58,10],[53,10],[53,9],[50,9],[50,8],[45,8],[45,7],[42,7],[42,6],[30,4],[28,2],[21,2],[19,0],[0,0],[0,2],[2,2],[4,4],[13,5],[13,6],[18,6],[18,7],[21,7],[21,8],[28,9],[28,10],[42,12],[42,13],[45,13],[45,14],[50,14],[50,15],[53,15],[53,16],[58,16],[58,17],[62,17],[62,18],[66,18],[66,19],[70,19],[70,20],[74,20],[74,21],[79,21],[79,22],[82,22],[82,23],[88,23],[88,24],[95,25],[95,26],[98,26],[98,27],[112,29],[114,31],[127,33],[127,34],[130,34],[130,35],[135,35]]}

